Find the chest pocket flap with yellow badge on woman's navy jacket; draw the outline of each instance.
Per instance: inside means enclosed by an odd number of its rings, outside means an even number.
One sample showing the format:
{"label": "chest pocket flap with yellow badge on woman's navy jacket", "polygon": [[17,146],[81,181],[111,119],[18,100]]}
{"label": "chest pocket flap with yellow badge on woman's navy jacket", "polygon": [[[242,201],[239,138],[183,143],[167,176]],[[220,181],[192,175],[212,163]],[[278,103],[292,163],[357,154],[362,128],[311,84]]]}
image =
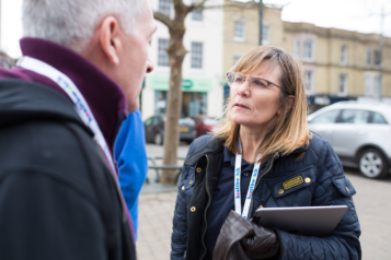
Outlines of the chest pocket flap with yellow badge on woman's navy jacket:
{"label": "chest pocket flap with yellow badge on woman's navy jacket", "polygon": [[315,182],[317,176],[313,172],[313,166],[289,173],[278,182],[268,184],[274,198],[278,199],[290,194],[297,190],[311,186]]}

